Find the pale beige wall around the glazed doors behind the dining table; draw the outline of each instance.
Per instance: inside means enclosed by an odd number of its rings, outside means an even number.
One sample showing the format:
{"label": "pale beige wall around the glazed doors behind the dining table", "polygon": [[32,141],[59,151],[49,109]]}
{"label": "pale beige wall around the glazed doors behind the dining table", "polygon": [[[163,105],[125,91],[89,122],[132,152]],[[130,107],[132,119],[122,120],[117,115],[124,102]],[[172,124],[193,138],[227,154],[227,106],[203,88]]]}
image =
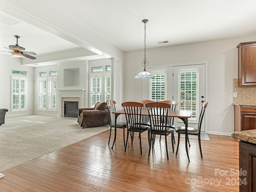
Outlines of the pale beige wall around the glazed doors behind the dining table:
{"label": "pale beige wall around the glazed doors behind the dining table", "polygon": [[[232,79],[238,78],[240,42],[255,41],[256,35],[240,38],[198,42],[146,50],[149,66],[166,66],[193,62],[208,62],[208,133],[230,135],[234,131]],[[124,101],[138,101],[143,95],[143,81],[134,76],[143,70],[144,50],[125,52]],[[147,83],[147,82],[146,82]],[[148,90],[147,90],[148,91]],[[228,98],[221,98],[228,92]],[[143,98],[146,99],[146,98]]]}

